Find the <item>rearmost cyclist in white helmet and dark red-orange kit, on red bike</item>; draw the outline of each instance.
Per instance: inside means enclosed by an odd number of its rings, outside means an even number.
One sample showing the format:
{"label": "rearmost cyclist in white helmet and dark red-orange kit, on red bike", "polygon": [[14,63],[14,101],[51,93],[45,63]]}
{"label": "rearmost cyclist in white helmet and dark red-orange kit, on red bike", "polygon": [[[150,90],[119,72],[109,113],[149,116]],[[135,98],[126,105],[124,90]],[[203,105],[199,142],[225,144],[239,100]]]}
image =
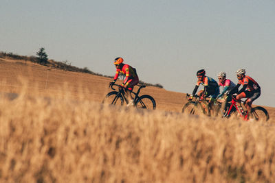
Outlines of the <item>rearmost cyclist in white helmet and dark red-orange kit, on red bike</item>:
{"label": "rearmost cyclist in white helmet and dark red-orange kit, on red bike", "polygon": [[[241,99],[247,98],[244,102],[245,108],[247,108],[248,112],[251,112],[252,102],[258,99],[261,95],[261,87],[259,84],[252,79],[252,77],[245,75],[245,69],[239,69],[236,71],[236,77],[238,78],[238,84],[233,88],[238,89],[241,84],[243,88],[239,90],[236,95],[237,102],[239,103],[239,107],[241,108]],[[232,95],[232,93],[230,92]]]}

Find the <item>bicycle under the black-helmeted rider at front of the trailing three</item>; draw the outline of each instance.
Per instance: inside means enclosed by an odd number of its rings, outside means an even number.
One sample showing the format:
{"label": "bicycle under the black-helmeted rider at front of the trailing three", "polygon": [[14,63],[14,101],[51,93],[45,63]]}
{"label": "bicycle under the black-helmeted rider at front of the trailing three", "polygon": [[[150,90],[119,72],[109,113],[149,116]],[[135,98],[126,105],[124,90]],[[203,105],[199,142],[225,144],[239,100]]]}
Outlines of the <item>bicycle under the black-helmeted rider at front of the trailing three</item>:
{"label": "bicycle under the black-helmeted rider at front of the trailing three", "polygon": [[[186,93],[186,98],[190,97],[190,94]],[[195,101],[188,101],[181,112],[188,112],[189,114],[206,114],[208,116],[211,115],[209,101],[210,99],[200,99],[199,95],[193,95],[192,99],[195,98]],[[212,108],[216,108],[216,101],[214,102],[214,106]],[[216,110],[213,110],[216,111]]]}

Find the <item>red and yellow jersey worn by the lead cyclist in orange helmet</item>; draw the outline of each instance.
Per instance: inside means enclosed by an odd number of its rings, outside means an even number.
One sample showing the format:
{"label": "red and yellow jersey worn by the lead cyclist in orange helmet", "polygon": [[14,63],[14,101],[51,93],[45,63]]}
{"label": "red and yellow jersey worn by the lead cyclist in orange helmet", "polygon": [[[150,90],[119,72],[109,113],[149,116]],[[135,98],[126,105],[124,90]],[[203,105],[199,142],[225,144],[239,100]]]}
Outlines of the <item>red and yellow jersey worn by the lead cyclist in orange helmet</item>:
{"label": "red and yellow jersey worn by the lead cyclist in orange helmet", "polygon": [[122,66],[122,69],[116,69],[115,77],[113,77],[114,81],[118,79],[118,75],[120,73],[126,76],[123,82],[124,85],[128,85],[134,78],[138,78],[137,73],[135,72],[133,67],[129,66],[128,64],[124,64]]}

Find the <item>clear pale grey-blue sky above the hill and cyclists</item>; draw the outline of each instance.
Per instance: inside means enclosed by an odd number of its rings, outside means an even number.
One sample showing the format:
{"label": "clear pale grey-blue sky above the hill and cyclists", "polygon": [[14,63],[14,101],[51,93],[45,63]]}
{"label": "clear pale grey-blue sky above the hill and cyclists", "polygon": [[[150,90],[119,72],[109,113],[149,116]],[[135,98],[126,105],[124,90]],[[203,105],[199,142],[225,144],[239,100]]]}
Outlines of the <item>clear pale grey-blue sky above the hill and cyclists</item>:
{"label": "clear pale grey-blue sky above the hill and cyclists", "polygon": [[274,0],[1,0],[0,22],[0,51],[45,47],[103,75],[120,56],[143,82],[181,93],[192,93],[199,69],[235,83],[246,69],[262,88],[254,103],[275,107]]}

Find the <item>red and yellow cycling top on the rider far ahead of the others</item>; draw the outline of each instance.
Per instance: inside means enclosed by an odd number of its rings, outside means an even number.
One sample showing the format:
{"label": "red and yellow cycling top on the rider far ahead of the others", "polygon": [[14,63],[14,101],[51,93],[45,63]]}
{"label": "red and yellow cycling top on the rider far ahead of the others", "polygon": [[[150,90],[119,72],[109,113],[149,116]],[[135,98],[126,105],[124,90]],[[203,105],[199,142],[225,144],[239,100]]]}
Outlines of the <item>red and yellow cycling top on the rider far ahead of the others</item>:
{"label": "red and yellow cycling top on the rider far ahead of the others", "polygon": [[129,90],[133,90],[133,86],[139,82],[135,69],[133,69],[133,67],[129,66],[128,64],[124,64],[122,69],[116,69],[115,77],[113,77],[114,81],[118,79],[118,75],[120,73],[126,76],[122,85],[129,87]]}

